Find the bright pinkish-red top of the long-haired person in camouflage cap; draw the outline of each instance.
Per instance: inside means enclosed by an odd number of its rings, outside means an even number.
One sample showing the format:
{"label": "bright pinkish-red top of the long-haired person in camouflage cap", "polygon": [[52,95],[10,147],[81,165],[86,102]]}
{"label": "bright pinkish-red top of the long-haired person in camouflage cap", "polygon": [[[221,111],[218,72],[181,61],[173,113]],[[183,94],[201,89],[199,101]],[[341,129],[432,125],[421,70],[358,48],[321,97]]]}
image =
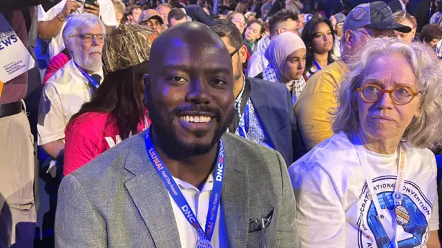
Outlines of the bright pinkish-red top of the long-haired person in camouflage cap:
{"label": "bright pinkish-red top of the long-haired person in camouflage cap", "polygon": [[[147,124],[151,120],[147,118]],[[144,121],[137,131],[146,129]],[[66,176],[86,165],[99,154],[121,142],[115,119],[109,113],[89,112],[81,114],[66,127],[63,174]]]}

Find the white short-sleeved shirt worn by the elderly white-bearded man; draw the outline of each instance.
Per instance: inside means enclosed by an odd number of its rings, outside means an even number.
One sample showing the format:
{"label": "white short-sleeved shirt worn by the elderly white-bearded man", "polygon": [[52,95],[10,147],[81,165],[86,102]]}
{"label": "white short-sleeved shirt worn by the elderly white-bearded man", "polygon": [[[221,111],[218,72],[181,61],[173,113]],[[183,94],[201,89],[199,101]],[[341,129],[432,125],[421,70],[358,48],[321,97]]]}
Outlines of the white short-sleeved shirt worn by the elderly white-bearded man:
{"label": "white short-sleeved shirt worn by the elderly white-bearded man", "polygon": [[[96,72],[103,78],[103,70]],[[64,138],[70,117],[83,103],[90,101],[89,81],[78,70],[73,59],[53,74],[46,83],[39,105],[38,144]]]}

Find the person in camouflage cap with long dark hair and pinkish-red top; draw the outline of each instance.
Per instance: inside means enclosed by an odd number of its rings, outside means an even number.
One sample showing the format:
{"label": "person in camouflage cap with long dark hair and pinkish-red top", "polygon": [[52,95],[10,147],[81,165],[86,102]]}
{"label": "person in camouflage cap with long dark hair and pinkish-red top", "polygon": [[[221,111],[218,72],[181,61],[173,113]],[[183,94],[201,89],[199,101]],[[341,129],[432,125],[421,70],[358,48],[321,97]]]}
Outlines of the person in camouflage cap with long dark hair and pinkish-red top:
{"label": "person in camouflage cap with long dark hair and pinkish-red top", "polygon": [[66,127],[65,176],[151,123],[143,103],[143,76],[156,37],[142,25],[121,25],[106,40],[103,63],[108,74]]}

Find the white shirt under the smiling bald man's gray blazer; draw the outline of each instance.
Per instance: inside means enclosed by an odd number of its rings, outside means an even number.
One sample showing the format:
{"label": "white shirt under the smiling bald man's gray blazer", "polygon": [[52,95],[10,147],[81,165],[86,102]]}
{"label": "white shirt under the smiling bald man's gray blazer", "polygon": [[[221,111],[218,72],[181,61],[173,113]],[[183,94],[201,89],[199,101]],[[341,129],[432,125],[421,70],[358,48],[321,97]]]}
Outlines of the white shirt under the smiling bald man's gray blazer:
{"label": "white shirt under the smiling bald man's gray blazer", "polygon": [[[213,175],[209,175],[201,191],[190,183],[186,183],[178,178],[174,177],[173,180],[175,180],[175,183],[180,187],[184,198],[186,198],[187,203],[189,203],[193,213],[198,218],[198,222],[205,231],[209,199],[213,188]],[[182,248],[195,248],[196,242],[199,240],[198,231],[189,223],[186,217],[184,217],[184,214],[182,214],[182,211],[175,203],[175,200],[173,200],[171,194],[169,194],[169,198],[172,203],[173,215],[175,216],[178,233],[180,234]],[[218,215],[216,216],[215,229],[213,230],[213,236],[211,239],[211,243],[215,248],[225,247],[224,218],[222,216],[223,214],[220,204],[220,207],[218,207]]]}

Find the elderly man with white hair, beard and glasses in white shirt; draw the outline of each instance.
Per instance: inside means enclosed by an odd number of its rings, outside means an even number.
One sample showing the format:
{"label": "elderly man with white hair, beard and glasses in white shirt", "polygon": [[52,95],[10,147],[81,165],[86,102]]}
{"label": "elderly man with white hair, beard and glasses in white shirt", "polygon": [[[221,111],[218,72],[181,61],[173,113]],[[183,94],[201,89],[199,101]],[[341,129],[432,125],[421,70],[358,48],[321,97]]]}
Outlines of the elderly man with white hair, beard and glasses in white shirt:
{"label": "elderly man with white hair, beard and glasses in white shirt", "polygon": [[90,101],[103,79],[105,39],[104,23],[94,14],[71,17],[63,30],[63,41],[72,59],[46,83],[37,125],[38,144],[57,162],[63,162],[64,129],[70,117]]}

